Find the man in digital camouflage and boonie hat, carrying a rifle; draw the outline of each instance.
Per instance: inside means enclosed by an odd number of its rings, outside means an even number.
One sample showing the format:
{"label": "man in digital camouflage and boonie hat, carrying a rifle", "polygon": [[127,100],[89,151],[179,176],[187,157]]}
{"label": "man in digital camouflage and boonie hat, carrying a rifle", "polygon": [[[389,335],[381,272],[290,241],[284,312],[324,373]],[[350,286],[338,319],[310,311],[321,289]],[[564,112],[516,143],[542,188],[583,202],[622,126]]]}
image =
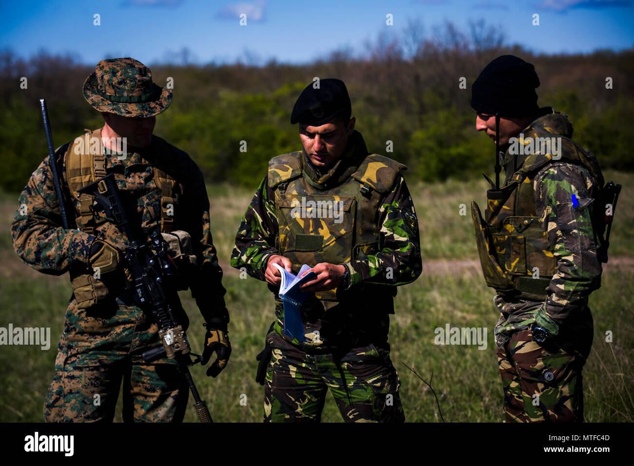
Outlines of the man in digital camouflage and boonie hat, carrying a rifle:
{"label": "man in digital camouflage and boonie hat, carrying a rifle", "polygon": [[[182,248],[175,259],[188,270],[188,285],[207,326],[204,363],[217,353],[207,371],[215,377],[231,346],[202,172],[185,152],[152,134],[172,91],[157,86],[143,63],[133,58],[100,61],[83,93],[105,124],[56,151],[62,202],[72,228],[61,226],[49,157],[22,191],[11,224],[18,256],[42,273],[68,272],[73,288],[44,418],[112,421],[123,381],[124,421],[180,422],[188,399],[183,374],[173,359],[145,363],[141,358],[159,343],[157,325],[134,305],[126,287],[129,272],[121,264],[128,238],[94,209],[93,196],[78,190],[114,174],[133,228],[148,236],[159,229],[171,247]],[[179,319],[186,328],[186,315]]]}

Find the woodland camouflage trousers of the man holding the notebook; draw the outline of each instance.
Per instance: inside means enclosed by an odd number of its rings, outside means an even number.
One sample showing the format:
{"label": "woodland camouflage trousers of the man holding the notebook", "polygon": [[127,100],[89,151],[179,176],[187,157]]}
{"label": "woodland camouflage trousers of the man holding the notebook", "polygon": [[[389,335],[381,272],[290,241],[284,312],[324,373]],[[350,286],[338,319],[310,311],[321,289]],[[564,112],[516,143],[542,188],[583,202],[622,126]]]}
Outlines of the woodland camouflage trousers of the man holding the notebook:
{"label": "woodland camouflage trousers of the man holding the notebook", "polygon": [[346,422],[404,422],[401,382],[389,351],[372,344],[333,354],[306,353],[273,331],[264,385],[264,422],[320,422],[328,388]]}

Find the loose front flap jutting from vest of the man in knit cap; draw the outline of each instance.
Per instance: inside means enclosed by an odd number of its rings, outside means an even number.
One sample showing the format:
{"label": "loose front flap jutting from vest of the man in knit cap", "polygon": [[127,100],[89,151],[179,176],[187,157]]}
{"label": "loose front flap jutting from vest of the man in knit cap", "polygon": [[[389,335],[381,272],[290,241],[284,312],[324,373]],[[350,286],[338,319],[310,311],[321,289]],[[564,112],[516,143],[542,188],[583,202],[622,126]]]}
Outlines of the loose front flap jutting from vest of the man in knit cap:
{"label": "loose front flap jutting from vest of the man in knit cap", "polygon": [[[513,290],[514,282],[510,276],[503,270],[498,263],[498,247],[505,247],[504,242],[500,241],[500,236],[496,236],[496,243],[493,236],[489,233],[487,224],[482,219],[480,208],[475,201],[471,202],[471,218],[474,224],[475,242],[480,256],[480,264],[482,273],[487,286],[495,288],[498,292],[510,292]],[[506,236],[506,235],[505,235]]]}

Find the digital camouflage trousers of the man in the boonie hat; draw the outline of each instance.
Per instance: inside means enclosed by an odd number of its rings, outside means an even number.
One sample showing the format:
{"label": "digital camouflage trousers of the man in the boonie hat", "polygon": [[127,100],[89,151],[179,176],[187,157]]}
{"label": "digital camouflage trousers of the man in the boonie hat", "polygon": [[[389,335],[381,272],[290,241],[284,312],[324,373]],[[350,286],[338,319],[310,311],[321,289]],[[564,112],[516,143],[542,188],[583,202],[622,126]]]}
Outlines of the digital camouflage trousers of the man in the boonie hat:
{"label": "digital camouflage trousers of the man in the boonie hat", "polygon": [[44,419],[112,422],[123,386],[125,422],[182,422],[189,392],[176,364],[141,358],[157,345],[156,332],[136,306],[78,309],[71,301]]}

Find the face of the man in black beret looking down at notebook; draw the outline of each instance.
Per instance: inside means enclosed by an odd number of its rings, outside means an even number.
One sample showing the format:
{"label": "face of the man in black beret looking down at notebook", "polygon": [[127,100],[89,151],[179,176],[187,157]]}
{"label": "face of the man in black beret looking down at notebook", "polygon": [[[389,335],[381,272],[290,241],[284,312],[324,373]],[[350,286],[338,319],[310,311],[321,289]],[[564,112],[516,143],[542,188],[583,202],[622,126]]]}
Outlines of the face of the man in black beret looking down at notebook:
{"label": "face of the man in black beret looking down at notebook", "polygon": [[353,130],[354,118],[347,124],[335,119],[321,126],[300,124],[299,137],[311,164],[318,169],[327,169],[339,160]]}

